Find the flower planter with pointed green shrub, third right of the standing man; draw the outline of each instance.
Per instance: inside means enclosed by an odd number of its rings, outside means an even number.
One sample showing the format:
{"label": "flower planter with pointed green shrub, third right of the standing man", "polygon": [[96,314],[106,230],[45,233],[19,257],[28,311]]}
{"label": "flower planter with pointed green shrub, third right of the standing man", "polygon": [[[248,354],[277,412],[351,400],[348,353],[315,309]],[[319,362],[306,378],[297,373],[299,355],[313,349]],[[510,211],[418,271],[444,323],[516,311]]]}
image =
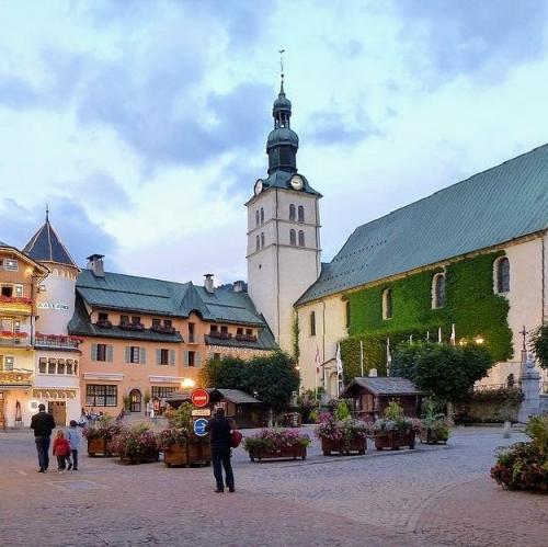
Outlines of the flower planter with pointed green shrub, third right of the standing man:
{"label": "flower planter with pointed green shrub, third right of the standing man", "polygon": [[421,421],[416,418],[406,418],[403,409],[390,401],[385,409],[384,418],[376,420],[370,426],[375,436],[375,448],[399,451],[401,446],[414,448],[416,433],[421,430]]}

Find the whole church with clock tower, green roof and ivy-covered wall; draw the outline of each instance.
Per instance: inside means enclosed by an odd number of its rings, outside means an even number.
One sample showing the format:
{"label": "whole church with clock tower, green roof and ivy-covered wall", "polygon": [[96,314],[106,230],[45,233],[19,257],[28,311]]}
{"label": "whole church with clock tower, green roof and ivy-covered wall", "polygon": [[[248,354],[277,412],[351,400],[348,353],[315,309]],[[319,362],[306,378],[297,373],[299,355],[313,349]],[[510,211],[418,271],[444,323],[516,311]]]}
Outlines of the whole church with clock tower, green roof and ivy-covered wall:
{"label": "whole church with clock tower, green roof and ivy-covered wall", "polygon": [[498,363],[482,384],[517,381],[548,316],[548,145],[358,226],[321,263],[322,196],[297,170],[290,116],[282,80],[267,176],[246,204],[247,261],[249,295],[298,356],[301,387],[336,395],[341,342],[353,375],[358,361],[386,374],[390,343],[413,339],[484,344]]}

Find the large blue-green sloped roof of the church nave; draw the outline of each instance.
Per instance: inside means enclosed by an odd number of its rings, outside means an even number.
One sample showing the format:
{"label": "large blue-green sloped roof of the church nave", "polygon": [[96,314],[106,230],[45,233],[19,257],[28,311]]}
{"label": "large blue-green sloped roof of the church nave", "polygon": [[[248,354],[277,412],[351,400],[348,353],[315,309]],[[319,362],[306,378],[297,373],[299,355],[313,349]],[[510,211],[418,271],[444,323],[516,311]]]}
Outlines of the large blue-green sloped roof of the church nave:
{"label": "large blue-green sloped roof of the church nave", "polygon": [[354,230],[297,305],[548,228],[548,145]]}

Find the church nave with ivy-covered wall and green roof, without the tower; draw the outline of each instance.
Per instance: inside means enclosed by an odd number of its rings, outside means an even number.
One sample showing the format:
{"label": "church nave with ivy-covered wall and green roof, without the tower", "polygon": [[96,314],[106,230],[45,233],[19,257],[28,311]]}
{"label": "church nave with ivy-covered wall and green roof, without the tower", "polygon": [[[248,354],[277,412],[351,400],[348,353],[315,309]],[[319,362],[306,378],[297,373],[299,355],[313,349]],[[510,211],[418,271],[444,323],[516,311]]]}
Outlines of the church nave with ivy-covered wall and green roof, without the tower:
{"label": "church nave with ivy-covered wall and green roof, without the tower", "polygon": [[339,343],[347,381],[415,340],[484,344],[482,383],[517,381],[548,317],[548,145],[357,227],[295,317],[304,388],[336,394]]}

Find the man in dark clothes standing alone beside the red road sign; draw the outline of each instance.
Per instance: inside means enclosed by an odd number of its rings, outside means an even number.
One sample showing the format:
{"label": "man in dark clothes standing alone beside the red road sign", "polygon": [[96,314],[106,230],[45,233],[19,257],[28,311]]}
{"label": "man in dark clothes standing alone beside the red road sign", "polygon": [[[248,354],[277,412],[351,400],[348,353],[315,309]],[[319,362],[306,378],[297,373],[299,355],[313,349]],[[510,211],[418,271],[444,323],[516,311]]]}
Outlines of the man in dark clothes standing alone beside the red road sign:
{"label": "man in dark clothes standing alone beside the red road sign", "polygon": [[222,467],[225,468],[226,482],[229,492],[235,491],[235,476],[230,463],[230,442],[232,438],[232,423],[225,418],[225,409],[215,410],[215,418],[209,420],[206,431],[209,432],[209,443],[212,445],[213,474],[217,481],[216,492],[222,492]]}

